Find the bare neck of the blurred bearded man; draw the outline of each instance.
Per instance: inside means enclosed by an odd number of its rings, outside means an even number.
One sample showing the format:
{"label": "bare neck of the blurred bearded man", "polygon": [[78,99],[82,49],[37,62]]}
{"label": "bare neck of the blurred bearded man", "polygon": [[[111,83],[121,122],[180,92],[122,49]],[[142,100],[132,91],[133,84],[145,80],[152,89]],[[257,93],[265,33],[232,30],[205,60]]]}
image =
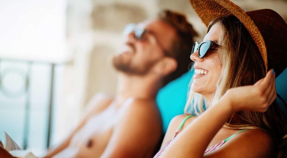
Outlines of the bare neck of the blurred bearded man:
{"label": "bare neck of the blurred bearded man", "polygon": [[128,98],[155,100],[160,87],[159,80],[150,76],[119,74],[115,101],[121,105]]}

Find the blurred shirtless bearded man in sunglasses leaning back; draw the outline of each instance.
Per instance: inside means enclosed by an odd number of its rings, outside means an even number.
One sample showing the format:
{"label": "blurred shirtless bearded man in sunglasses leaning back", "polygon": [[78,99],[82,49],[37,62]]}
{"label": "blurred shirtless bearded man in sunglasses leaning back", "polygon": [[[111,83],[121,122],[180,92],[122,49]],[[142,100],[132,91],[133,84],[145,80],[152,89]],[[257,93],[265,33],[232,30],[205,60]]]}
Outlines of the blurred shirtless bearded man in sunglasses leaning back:
{"label": "blurred shirtless bearded man in sunglasses leaning back", "polygon": [[162,138],[158,90],[187,72],[193,36],[185,16],[162,11],[125,28],[126,41],[113,58],[116,95],[96,94],[87,115],[46,157],[152,157]]}

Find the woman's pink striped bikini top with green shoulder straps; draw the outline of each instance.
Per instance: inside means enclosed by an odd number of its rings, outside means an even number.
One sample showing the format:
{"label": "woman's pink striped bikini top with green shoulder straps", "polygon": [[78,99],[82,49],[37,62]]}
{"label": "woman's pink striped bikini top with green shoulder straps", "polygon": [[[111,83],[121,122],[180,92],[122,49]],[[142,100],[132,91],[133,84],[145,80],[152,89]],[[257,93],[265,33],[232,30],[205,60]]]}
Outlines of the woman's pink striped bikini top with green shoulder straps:
{"label": "woman's pink striped bikini top with green shoulder straps", "polygon": [[[186,121],[188,118],[192,117],[192,116],[194,116],[194,115],[189,115],[189,116],[185,117],[185,119],[181,122],[179,128],[177,128],[177,130],[175,131],[173,137],[164,145],[164,147],[162,147],[162,149],[160,149],[160,151],[158,151],[158,153],[156,153],[156,155],[154,155],[153,158],[158,158],[158,157],[160,157],[160,155],[163,153],[163,151],[165,150],[165,148],[174,140],[175,136],[176,136],[176,135],[178,134],[178,132],[181,130],[181,128],[183,127],[185,121]],[[240,131],[234,133],[232,136],[230,136],[230,137],[228,137],[228,138],[222,140],[220,143],[218,143],[218,144],[216,144],[216,145],[214,145],[214,146],[212,146],[212,147],[206,149],[206,150],[204,151],[204,153],[208,153],[208,152],[211,152],[211,151],[214,151],[214,150],[218,149],[218,148],[221,147],[225,142],[227,142],[230,138],[232,138],[232,137],[235,136],[237,133],[242,132],[242,131],[245,131],[245,130],[240,130]]]}

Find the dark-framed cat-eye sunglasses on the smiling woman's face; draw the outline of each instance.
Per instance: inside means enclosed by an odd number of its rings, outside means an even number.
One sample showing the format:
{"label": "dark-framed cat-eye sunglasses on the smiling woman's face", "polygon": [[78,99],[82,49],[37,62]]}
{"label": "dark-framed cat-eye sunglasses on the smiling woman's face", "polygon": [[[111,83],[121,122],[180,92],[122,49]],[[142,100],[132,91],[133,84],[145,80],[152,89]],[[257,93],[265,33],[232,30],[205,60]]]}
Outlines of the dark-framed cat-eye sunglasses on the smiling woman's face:
{"label": "dark-framed cat-eye sunglasses on the smiling woman's face", "polygon": [[209,51],[216,50],[217,47],[218,44],[212,41],[203,41],[199,44],[195,42],[192,47],[191,54],[195,53],[198,50],[198,57],[203,58]]}

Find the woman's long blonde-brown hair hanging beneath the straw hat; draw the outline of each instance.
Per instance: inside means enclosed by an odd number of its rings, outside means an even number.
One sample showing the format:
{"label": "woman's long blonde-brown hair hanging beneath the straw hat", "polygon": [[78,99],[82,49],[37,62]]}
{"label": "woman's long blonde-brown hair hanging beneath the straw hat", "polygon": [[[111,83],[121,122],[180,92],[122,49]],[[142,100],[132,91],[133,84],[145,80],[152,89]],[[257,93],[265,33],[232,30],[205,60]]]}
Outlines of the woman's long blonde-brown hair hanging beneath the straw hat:
{"label": "woman's long blonde-brown hair hanging beneath the straw hat", "polygon": [[[218,49],[219,58],[222,62],[222,72],[216,83],[216,90],[209,101],[205,101],[206,108],[216,104],[218,100],[233,87],[255,84],[258,80],[265,77],[265,66],[261,54],[243,24],[235,16],[223,16],[210,22],[208,31],[218,24],[222,29],[218,44],[222,47]],[[224,38],[223,38],[224,37]],[[204,111],[201,95],[189,90],[189,97],[185,107],[193,105],[195,114],[199,115]],[[199,109],[199,111],[198,111]],[[236,115],[238,122],[231,122]],[[276,100],[266,112],[239,111],[234,113],[224,124],[225,128],[230,129],[262,129],[270,134],[276,145],[278,157],[282,156],[283,147],[286,145],[285,120],[279,109]]]}

